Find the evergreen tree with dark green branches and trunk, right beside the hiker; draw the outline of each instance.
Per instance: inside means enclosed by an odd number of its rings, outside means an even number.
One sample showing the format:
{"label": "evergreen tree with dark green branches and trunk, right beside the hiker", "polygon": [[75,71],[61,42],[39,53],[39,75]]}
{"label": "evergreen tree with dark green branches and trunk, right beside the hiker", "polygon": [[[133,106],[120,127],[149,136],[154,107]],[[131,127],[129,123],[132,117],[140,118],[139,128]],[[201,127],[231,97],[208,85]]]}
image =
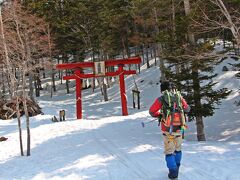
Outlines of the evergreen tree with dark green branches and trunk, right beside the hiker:
{"label": "evergreen tree with dark green branches and trunk, right beside the hiker", "polygon": [[[184,1],[186,18],[190,15],[189,1]],[[186,20],[187,20],[186,19]],[[178,23],[181,24],[182,21]],[[187,24],[189,21],[186,21]],[[185,24],[185,23],[184,23]],[[179,27],[182,27],[181,25]],[[187,27],[189,27],[187,25]],[[187,32],[184,37],[183,33]],[[196,117],[197,137],[199,141],[205,141],[203,117],[212,116],[216,104],[220,104],[221,99],[225,98],[230,91],[227,89],[214,90],[213,87],[216,83],[213,78],[213,65],[216,57],[210,55],[213,47],[208,43],[196,43],[190,29],[186,31],[178,31],[182,33],[178,35],[177,50],[172,53],[172,49],[167,51],[166,58],[174,64],[178,64],[178,70],[172,71],[169,76],[173,78],[178,89],[186,91],[186,99],[191,105],[192,110],[190,116]],[[182,40],[180,37],[184,37]],[[188,43],[187,43],[188,42]],[[177,66],[175,66],[177,67]]]}

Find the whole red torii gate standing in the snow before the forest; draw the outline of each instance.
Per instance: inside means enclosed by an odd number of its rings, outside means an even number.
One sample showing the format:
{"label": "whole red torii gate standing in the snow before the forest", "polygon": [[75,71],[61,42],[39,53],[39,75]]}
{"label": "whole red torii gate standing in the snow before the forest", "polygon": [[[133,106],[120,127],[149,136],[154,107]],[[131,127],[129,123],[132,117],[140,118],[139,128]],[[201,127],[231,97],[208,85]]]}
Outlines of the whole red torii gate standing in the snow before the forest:
{"label": "whole red torii gate standing in the snow before the forest", "polygon": [[[118,59],[118,60],[107,60],[102,61],[103,67],[110,67],[110,66],[118,66],[117,71],[113,72],[106,72],[103,74],[96,74],[94,73],[94,69],[96,68],[96,62],[79,62],[79,63],[68,63],[68,64],[58,64],[56,66],[59,70],[74,70],[74,74],[70,76],[64,76],[64,80],[76,80],[76,111],[77,111],[77,119],[82,119],[82,83],[81,79],[84,78],[96,78],[96,77],[103,77],[103,76],[119,76],[119,83],[120,83],[120,94],[121,94],[121,101],[122,101],[122,115],[128,115],[127,110],[127,98],[125,92],[125,81],[124,75],[136,74],[135,70],[124,70],[124,65],[126,64],[140,64],[141,58],[134,57],[128,59]],[[81,72],[83,68],[92,68],[93,73],[84,74]]]}

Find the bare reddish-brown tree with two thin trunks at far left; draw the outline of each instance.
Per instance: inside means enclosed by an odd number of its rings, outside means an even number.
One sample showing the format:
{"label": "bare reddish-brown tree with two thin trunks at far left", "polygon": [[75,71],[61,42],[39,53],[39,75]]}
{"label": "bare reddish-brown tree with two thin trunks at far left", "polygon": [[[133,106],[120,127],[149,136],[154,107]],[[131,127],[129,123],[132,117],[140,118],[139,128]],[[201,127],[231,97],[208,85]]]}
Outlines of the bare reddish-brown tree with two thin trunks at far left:
{"label": "bare reddish-brown tree with two thin trunks at far left", "polygon": [[[3,19],[5,22],[3,24]],[[1,25],[1,39],[3,42],[3,52],[5,54],[4,65],[7,69],[9,76],[12,98],[16,96],[16,109],[19,124],[20,142],[21,140],[21,120],[19,113],[19,96],[18,89],[16,88],[15,70],[17,69],[19,84],[23,102],[24,114],[26,116],[26,129],[27,129],[27,156],[30,156],[30,114],[27,101],[29,101],[27,93],[27,76],[30,73],[36,72],[43,63],[39,63],[42,57],[48,56],[48,38],[46,32],[46,24],[25,9],[19,1],[13,1],[4,6],[4,14],[0,14]],[[5,31],[3,29],[5,27]],[[47,59],[47,58],[46,58]],[[20,83],[21,79],[21,83]],[[21,155],[23,155],[22,144],[20,145]]]}

